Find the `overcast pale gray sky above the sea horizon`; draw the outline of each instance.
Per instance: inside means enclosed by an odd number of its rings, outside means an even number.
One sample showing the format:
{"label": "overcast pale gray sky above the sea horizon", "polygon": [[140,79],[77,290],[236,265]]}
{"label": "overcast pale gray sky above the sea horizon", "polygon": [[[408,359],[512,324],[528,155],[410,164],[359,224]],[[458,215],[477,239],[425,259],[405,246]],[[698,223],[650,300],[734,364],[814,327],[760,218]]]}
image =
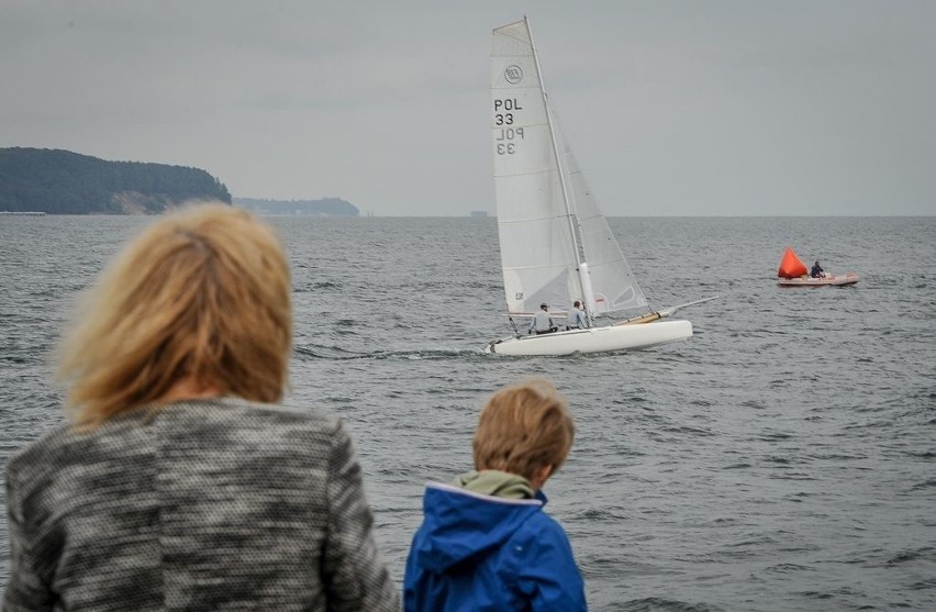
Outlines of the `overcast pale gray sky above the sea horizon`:
{"label": "overcast pale gray sky above the sea horizon", "polygon": [[0,147],[493,213],[491,30],[524,14],[611,216],[936,214],[931,0],[0,0]]}

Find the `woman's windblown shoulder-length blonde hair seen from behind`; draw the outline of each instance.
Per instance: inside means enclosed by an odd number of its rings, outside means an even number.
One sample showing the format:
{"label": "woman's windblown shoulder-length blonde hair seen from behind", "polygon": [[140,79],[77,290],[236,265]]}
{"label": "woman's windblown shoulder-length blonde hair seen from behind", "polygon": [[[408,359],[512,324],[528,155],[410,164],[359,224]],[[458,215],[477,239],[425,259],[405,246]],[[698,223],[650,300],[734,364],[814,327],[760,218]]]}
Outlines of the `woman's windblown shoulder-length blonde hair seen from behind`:
{"label": "woman's windblown shoulder-length blonde hair seen from behind", "polygon": [[222,203],[169,214],[98,279],[59,346],[79,424],[158,401],[182,377],[220,394],[282,398],[289,267],[274,231]]}

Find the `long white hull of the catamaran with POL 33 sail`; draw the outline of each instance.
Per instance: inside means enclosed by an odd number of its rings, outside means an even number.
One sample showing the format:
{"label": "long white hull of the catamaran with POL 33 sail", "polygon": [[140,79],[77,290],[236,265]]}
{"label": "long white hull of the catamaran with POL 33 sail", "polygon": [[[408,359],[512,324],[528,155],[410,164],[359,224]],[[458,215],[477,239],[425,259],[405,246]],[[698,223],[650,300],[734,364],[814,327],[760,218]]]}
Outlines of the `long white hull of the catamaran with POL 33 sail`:
{"label": "long white hull of the catamaran with POL 33 sail", "polygon": [[689,321],[657,321],[636,325],[610,325],[553,334],[508,336],[489,342],[484,353],[498,355],[570,355],[646,348],[692,336]]}

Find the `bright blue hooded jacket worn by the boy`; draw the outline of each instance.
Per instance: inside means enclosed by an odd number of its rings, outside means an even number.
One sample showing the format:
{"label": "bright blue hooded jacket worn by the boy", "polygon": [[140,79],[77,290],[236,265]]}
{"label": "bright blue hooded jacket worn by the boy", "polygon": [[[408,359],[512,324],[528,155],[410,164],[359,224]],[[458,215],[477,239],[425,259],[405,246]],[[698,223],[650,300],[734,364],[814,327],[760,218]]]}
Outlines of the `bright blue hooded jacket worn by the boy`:
{"label": "bright blue hooded jacket worn by the boy", "polygon": [[406,612],[587,610],[566,532],[546,496],[503,499],[431,482],[406,559]]}

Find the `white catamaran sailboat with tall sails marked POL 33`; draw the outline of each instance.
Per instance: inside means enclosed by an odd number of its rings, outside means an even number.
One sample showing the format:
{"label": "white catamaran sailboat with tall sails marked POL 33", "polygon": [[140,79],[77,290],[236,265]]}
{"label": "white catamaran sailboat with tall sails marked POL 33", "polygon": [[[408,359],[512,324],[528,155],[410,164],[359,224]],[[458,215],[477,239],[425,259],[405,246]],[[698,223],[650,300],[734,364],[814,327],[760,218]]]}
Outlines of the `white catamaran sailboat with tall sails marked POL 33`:
{"label": "white catamaran sailboat with tall sails marked POL 33", "polygon": [[[514,334],[489,342],[484,352],[569,355],[691,337],[689,321],[660,319],[714,298],[650,311],[559,131],[526,16],[493,31],[491,68],[498,232]],[[582,302],[591,326],[566,330],[565,321],[556,321],[559,331],[544,334],[516,326],[515,319],[528,321],[542,303],[568,308],[575,301]],[[594,325],[594,316],[617,311],[639,313]]]}

